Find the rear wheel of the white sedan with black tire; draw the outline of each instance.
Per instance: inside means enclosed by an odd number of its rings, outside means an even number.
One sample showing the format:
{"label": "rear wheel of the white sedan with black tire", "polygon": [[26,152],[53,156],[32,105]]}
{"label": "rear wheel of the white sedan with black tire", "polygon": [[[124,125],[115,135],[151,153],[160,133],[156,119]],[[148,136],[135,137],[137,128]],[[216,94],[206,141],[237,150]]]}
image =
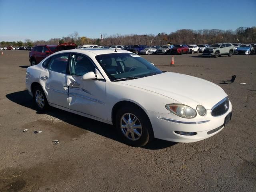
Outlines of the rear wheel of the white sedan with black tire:
{"label": "rear wheel of the white sedan with black tire", "polygon": [[[38,101],[38,99],[42,99],[40,103]],[[37,85],[33,88],[33,100],[34,100],[34,104],[36,105],[36,108],[39,110],[39,111],[43,111],[43,110],[46,110],[49,108],[49,104],[48,104],[48,101],[47,101],[47,98],[44,94],[44,90],[42,89],[41,86]]]}

